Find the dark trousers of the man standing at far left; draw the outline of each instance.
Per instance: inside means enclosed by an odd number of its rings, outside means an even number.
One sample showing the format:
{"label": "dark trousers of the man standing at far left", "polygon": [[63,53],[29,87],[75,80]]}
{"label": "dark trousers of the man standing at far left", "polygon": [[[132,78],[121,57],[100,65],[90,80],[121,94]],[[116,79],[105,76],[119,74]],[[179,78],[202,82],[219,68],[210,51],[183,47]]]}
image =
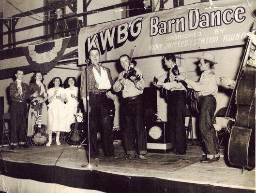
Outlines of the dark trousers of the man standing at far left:
{"label": "dark trousers of the man standing at far left", "polygon": [[25,102],[12,101],[10,120],[12,125],[11,143],[17,144],[26,141],[28,107]]}

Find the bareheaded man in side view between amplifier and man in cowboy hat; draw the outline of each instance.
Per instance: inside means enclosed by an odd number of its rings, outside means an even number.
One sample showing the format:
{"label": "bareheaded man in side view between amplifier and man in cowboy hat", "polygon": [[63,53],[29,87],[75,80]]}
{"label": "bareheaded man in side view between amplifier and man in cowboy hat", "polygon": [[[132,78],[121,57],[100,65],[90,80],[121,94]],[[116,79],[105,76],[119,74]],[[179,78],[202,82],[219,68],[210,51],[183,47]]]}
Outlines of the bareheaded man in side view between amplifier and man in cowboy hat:
{"label": "bareheaded man in side view between amplifier and man in cowboy hat", "polygon": [[167,92],[168,115],[170,122],[170,134],[172,148],[169,153],[176,153],[176,155],[186,154],[186,128],[185,128],[185,115],[186,115],[186,88],[182,83],[174,80],[175,74],[173,69],[178,68],[183,76],[184,68],[176,64],[175,55],[167,55],[165,57],[165,65],[169,70],[169,80],[167,83],[157,82],[155,86],[162,86]]}

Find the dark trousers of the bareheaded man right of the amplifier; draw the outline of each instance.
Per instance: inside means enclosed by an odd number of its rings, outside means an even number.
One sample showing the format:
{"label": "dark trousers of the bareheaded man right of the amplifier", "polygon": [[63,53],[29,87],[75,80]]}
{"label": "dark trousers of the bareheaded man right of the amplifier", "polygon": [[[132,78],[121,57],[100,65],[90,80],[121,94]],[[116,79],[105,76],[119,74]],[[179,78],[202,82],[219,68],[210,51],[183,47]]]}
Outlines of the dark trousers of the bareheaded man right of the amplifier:
{"label": "dark trousers of the bareheaded man right of the amplifier", "polygon": [[168,114],[172,148],[177,152],[186,152],[186,94],[184,91],[172,91],[168,96]]}

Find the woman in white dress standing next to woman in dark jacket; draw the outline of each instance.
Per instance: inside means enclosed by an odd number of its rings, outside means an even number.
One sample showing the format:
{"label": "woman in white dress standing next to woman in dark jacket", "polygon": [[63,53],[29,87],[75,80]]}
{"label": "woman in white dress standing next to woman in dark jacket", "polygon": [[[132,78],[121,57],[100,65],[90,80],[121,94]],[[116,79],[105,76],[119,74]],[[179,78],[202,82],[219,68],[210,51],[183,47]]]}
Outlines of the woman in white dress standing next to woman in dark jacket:
{"label": "woman in white dress standing next to woman in dark jacket", "polygon": [[52,143],[52,132],[56,132],[56,143],[60,145],[60,131],[65,131],[66,114],[65,114],[65,89],[62,87],[60,77],[52,79],[54,87],[47,90],[48,94],[48,129],[49,129],[49,142],[46,146]]}

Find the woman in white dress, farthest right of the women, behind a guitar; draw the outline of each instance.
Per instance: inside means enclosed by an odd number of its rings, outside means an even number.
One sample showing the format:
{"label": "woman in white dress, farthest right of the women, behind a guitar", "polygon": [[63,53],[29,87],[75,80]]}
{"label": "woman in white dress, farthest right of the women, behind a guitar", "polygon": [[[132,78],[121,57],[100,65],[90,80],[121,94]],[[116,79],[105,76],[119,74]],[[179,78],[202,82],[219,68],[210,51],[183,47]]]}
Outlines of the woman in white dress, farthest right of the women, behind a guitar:
{"label": "woman in white dress, farthest right of the women, behind a guitar", "polygon": [[75,116],[78,105],[78,88],[76,87],[75,77],[68,77],[65,81],[65,102],[66,102],[66,127],[65,131],[70,131],[70,125],[75,122]]}

